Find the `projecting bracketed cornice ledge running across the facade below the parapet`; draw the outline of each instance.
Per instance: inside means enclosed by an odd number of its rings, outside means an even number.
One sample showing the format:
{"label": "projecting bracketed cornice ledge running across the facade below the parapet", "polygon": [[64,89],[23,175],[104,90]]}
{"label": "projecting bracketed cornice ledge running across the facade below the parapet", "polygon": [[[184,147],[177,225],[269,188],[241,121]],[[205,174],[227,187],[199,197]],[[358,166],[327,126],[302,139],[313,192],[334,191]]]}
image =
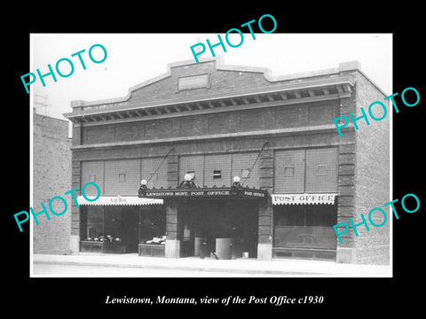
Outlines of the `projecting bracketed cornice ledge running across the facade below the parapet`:
{"label": "projecting bracketed cornice ledge running across the facade below the parapet", "polygon": [[[319,100],[350,97],[355,82],[349,75],[314,79],[303,82],[289,82],[269,89],[248,89],[237,93],[217,94],[209,97],[174,99],[138,105],[87,105],[83,111],[64,114],[75,123],[110,122],[121,119],[138,120],[170,117],[173,114],[189,115],[189,112],[202,113],[205,110],[231,111],[233,106],[264,106],[268,102],[277,105],[301,103],[304,99]],[[214,111],[213,111],[214,112]],[[162,115],[164,114],[164,115]]]}

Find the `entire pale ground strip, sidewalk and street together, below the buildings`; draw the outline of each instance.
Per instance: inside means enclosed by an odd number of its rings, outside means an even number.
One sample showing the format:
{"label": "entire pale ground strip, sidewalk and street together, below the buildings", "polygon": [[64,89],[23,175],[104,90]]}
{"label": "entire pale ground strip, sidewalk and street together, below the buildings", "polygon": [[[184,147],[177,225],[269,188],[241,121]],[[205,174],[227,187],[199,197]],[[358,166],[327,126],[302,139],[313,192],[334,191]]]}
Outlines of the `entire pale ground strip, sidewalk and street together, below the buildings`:
{"label": "entire pale ground strip, sidewalk and street together, below the buildings", "polygon": [[197,257],[168,259],[141,257],[137,253],[33,254],[31,257],[31,276],[392,276],[391,266],[343,264],[335,261],[214,260]]}

